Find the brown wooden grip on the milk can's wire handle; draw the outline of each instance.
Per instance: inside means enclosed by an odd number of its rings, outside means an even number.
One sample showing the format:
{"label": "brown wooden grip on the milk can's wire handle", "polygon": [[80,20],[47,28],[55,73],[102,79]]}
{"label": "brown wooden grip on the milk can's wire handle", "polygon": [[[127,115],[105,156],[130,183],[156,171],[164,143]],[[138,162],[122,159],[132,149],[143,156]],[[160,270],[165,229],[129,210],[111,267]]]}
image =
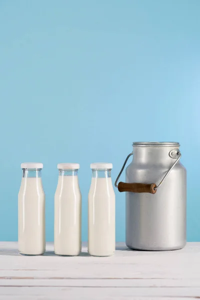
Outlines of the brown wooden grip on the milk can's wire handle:
{"label": "brown wooden grip on the milk can's wire handle", "polygon": [[119,182],[118,183],[118,190],[119,191],[131,191],[131,192],[149,192],[155,193],[156,189],[155,183],[145,184],[145,183],[125,183]]}

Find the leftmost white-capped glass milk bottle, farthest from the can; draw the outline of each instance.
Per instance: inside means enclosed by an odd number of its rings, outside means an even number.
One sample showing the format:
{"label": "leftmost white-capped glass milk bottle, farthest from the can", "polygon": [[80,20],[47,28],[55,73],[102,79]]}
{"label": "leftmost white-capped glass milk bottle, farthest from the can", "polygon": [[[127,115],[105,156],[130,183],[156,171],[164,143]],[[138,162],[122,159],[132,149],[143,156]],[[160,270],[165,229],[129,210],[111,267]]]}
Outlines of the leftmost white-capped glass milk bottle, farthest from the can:
{"label": "leftmost white-capped glass milk bottle, farthest from the can", "polygon": [[18,250],[40,255],[45,251],[45,195],[41,182],[42,163],[21,163],[18,193]]}

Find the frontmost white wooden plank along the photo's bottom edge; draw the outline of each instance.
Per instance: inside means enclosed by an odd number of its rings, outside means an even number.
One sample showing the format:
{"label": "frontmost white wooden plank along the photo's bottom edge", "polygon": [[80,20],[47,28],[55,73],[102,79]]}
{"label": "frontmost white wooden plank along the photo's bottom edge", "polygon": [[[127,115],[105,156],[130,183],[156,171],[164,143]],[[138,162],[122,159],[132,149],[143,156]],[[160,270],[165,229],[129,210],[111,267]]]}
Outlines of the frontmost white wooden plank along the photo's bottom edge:
{"label": "frontmost white wooden plank along the photo's bottom edge", "polygon": [[29,295],[36,299],[123,299],[135,297],[198,298],[200,287],[0,287],[1,296]]}

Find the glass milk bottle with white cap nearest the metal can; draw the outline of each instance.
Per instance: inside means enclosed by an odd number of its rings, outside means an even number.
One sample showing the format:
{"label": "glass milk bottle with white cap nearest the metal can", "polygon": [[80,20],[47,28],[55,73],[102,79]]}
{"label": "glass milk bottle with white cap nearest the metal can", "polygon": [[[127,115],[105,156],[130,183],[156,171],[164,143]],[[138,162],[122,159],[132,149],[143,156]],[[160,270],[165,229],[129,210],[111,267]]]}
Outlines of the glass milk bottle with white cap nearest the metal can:
{"label": "glass milk bottle with white cap nearest the metal can", "polygon": [[88,252],[110,256],[115,250],[115,194],[111,181],[112,163],[91,163],[88,194]]}

